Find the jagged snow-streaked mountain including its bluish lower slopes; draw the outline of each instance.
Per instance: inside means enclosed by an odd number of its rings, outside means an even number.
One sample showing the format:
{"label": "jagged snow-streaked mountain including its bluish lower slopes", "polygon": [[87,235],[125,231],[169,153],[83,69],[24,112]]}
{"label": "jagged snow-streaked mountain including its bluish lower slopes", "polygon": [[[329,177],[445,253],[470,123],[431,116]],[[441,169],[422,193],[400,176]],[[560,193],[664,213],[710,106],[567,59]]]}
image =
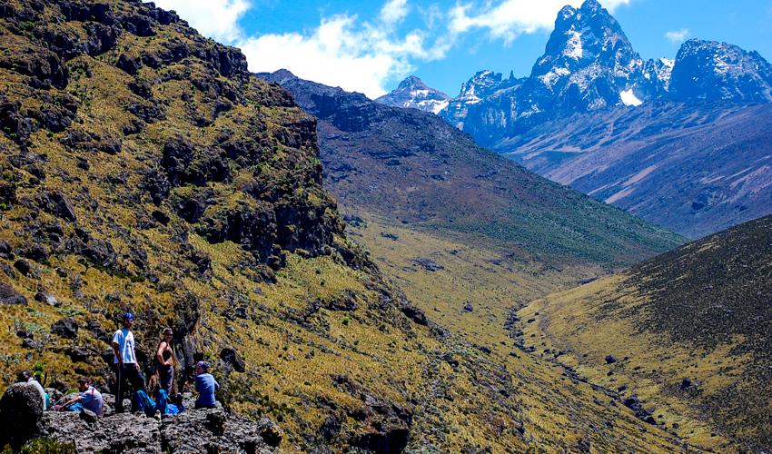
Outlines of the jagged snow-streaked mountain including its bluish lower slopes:
{"label": "jagged snow-streaked mountain including its bluish lower slopes", "polygon": [[481,71],[439,115],[556,182],[699,237],[772,212],[770,101],[772,66],[756,52],[689,40],[675,61],[645,61],[589,0],[560,11],[529,77]]}

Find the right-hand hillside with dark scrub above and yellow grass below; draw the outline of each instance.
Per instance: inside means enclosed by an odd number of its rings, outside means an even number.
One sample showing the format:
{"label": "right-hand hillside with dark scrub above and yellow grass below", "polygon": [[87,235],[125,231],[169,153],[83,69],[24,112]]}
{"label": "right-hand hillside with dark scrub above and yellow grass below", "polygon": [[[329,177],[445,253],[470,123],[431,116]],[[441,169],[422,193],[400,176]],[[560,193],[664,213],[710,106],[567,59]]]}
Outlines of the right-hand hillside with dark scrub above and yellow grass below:
{"label": "right-hand hillside with dark scrub above and yellow grass below", "polygon": [[[580,374],[624,387],[627,397],[638,394],[655,417],[665,415],[659,422],[687,439],[707,441],[712,431],[768,450],[770,276],[766,217],[532,303],[519,312],[533,319],[522,339],[525,346],[548,341]],[[606,355],[617,362],[607,364]],[[702,422],[685,425],[685,417]]]}

